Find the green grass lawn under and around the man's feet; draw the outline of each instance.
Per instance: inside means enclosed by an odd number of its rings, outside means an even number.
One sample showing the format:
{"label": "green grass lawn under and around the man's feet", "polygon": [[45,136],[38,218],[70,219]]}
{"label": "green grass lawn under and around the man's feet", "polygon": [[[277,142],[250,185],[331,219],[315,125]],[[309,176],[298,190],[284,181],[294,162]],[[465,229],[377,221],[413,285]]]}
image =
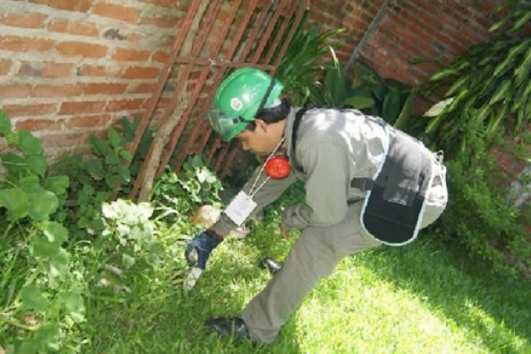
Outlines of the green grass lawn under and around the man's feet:
{"label": "green grass lawn under and around the man's feet", "polygon": [[[128,292],[89,299],[82,352],[531,353],[531,284],[489,273],[429,234],[345,258],[272,345],[219,339],[204,320],[238,315],[270,278],[259,259],[285,257],[296,238],[283,241],[277,217],[269,219],[246,240],[223,242],[190,293],[167,280],[166,260],[156,273],[129,274]],[[181,250],[172,256],[177,268]]]}

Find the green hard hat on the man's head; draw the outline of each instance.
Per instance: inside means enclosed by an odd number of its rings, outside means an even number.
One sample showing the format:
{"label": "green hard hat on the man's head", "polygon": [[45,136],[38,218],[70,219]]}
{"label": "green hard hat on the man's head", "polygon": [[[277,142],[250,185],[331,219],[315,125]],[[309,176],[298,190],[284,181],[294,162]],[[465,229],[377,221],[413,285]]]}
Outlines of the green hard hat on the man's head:
{"label": "green hard hat on the man's head", "polygon": [[266,99],[267,108],[281,95],[283,86],[280,81],[261,70],[244,67],[228,75],[221,82],[213,100],[213,108],[208,118],[224,142],[228,142],[247,127],[256,118],[267,89],[273,88]]}

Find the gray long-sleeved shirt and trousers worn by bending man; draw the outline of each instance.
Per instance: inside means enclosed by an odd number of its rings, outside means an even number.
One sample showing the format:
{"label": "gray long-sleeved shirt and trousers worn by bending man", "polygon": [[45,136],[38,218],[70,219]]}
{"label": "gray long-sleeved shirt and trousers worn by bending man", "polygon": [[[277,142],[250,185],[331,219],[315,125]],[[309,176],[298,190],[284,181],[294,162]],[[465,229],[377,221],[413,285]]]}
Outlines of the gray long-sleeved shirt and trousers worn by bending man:
{"label": "gray long-sleeved shirt and trousers worn by bending man", "polygon": [[[296,110],[287,119],[285,138],[290,150]],[[275,201],[300,179],[306,191],[304,204],[289,206],[282,214],[286,227],[303,232],[289,251],[281,272],[245,308],[242,319],[252,339],[273,342],[281,326],[316,283],[327,277],[344,257],[381,244],[360,225],[366,192],[351,188],[354,178],[372,178],[387,145],[384,128],[357,111],[314,109],[304,115],[296,137],[296,161],[304,173],[294,171],[282,180],[269,180],[253,197],[255,212]],[[419,144],[420,149],[426,149]],[[293,161],[293,158],[290,158]],[[292,170],[295,170],[292,168]],[[250,192],[266,181],[260,168],[243,190]],[[421,227],[437,219],[447,200],[446,170],[433,157],[435,178],[427,190]],[[222,214],[213,228],[227,235],[235,224]]]}

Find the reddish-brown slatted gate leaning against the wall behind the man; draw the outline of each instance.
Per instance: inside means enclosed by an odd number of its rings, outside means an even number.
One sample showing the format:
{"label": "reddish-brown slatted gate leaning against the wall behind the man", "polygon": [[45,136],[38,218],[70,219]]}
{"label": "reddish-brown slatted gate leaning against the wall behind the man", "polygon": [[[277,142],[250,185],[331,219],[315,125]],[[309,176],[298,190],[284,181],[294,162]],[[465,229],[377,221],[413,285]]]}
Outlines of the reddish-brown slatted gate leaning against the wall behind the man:
{"label": "reddish-brown slatted gate leaning against the wall behind the man", "polygon": [[221,177],[229,173],[240,147],[212,134],[204,119],[212,96],[231,69],[251,66],[274,74],[309,4],[310,0],[190,1],[129,146],[134,156],[144,131],[153,127],[153,142],[132,199],[138,195],[138,200],[146,200],[155,176],[166,165],[179,172],[190,155],[204,153]]}

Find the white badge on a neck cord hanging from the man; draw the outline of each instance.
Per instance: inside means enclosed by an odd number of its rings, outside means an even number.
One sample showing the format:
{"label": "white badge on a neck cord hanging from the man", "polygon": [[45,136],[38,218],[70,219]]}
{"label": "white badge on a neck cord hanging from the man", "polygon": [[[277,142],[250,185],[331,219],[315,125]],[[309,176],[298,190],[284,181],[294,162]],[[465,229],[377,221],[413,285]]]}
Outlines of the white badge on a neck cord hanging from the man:
{"label": "white badge on a neck cord hanging from the man", "polygon": [[227,208],[225,209],[225,214],[227,217],[238,226],[242,226],[242,224],[245,222],[246,219],[249,218],[250,213],[253,212],[258,204],[253,200],[254,196],[257,195],[258,191],[264,187],[267,181],[271,177],[267,176],[266,181],[263,181],[258,187],[258,180],[262,176],[262,173],[264,173],[264,169],[266,168],[267,161],[269,161],[270,158],[273,157],[274,153],[279,150],[281,147],[281,144],[284,142],[284,138],[282,137],[281,142],[278,143],[278,145],[273,149],[271,154],[266,159],[266,162],[262,165],[260,168],[260,172],[258,173],[258,176],[256,180],[253,182],[249,195],[245,193],[243,190],[238,193],[235,198],[230,202],[230,204],[227,205]]}

